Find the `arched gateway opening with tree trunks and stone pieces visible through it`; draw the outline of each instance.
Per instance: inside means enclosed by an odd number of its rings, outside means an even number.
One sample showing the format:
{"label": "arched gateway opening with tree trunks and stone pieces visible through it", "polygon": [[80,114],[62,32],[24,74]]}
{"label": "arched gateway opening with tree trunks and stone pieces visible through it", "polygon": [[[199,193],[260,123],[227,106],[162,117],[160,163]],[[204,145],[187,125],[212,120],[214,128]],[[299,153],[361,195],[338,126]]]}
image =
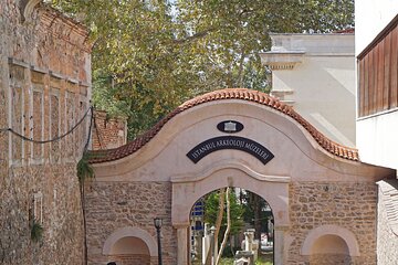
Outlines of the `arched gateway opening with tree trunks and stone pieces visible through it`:
{"label": "arched gateway opening with tree trunks and stone pieces visible through it", "polygon": [[207,193],[190,211],[190,264],[273,264],[273,220],[269,203],[254,192],[231,187]]}

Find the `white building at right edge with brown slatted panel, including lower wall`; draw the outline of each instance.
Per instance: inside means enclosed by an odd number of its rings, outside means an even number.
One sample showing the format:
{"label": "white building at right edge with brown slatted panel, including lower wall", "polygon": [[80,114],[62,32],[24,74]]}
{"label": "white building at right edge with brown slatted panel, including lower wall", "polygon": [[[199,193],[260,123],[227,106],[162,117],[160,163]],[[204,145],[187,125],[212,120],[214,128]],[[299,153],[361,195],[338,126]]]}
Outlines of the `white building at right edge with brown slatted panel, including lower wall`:
{"label": "white building at right edge with brown slatted panel, including lower wall", "polygon": [[[355,12],[359,156],[397,169],[398,1],[356,1]],[[398,180],[377,184],[377,264],[398,264]]]}

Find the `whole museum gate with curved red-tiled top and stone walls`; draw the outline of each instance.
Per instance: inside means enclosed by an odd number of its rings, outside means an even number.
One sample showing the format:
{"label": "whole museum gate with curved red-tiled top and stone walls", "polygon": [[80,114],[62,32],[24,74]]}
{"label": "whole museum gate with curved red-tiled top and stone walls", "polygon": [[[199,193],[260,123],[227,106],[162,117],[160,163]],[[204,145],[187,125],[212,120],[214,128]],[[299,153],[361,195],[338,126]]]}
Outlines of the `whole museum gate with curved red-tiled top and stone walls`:
{"label": "whole museum gate with curved red-tiled top and stone walls", "polygon": [[[199,96],[143,137],[92,153],[88,257],[103,262],[98,250],[121,227],[139,227],[156,239],[153,220],[163,218],[164,264],[187,265],[191,206],[216,189],[239,187],[273,211],[276,265],[332,254],[317,247],[326,243],[338,255],[346,254],[345,243],[356,263],[376,264],[375,182],[395,171],[358,159],[355,149],[327,139],[263,93],[222,89]],[[307,240],[325,225],[353,236],[328,232]],[[305,242],[312,242],[307,248]]]}

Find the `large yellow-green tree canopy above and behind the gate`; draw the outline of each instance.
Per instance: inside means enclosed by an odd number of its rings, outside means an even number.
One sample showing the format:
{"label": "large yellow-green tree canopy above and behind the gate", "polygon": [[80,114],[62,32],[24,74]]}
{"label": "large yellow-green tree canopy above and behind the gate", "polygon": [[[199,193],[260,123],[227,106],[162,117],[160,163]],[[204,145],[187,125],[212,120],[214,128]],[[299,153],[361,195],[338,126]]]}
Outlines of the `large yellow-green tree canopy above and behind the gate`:
{"label": "large yellow-green tree canopy above and behind the gate", "polygon": [[[93,99],[129,117],[130,137],[221,87],[269,89],[269,32],[354,24],[354,0],[52,0],[90,26]],[[113,82],[112,82],[113,81]]]}

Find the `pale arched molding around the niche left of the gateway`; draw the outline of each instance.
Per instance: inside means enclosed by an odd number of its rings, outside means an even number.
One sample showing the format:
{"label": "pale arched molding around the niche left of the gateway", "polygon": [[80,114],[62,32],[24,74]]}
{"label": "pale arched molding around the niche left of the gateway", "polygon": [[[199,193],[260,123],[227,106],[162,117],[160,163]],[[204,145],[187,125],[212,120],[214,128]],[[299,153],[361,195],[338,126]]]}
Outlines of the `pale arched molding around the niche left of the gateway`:
{"label": "pale arched molding around the niche left of the gateway", "polygon": [[112,246],[123,237],[133,236],[138,237],[145,242],[145,244],[148,246],[150,256],[157,256],[157,243],[155,239],[145,230],[142,230],[139,227],[132,227],[126,226],[123,229],[119,229],[112,233],[105,241],[103,246],[103,254],[104,255],[112,255]]}

